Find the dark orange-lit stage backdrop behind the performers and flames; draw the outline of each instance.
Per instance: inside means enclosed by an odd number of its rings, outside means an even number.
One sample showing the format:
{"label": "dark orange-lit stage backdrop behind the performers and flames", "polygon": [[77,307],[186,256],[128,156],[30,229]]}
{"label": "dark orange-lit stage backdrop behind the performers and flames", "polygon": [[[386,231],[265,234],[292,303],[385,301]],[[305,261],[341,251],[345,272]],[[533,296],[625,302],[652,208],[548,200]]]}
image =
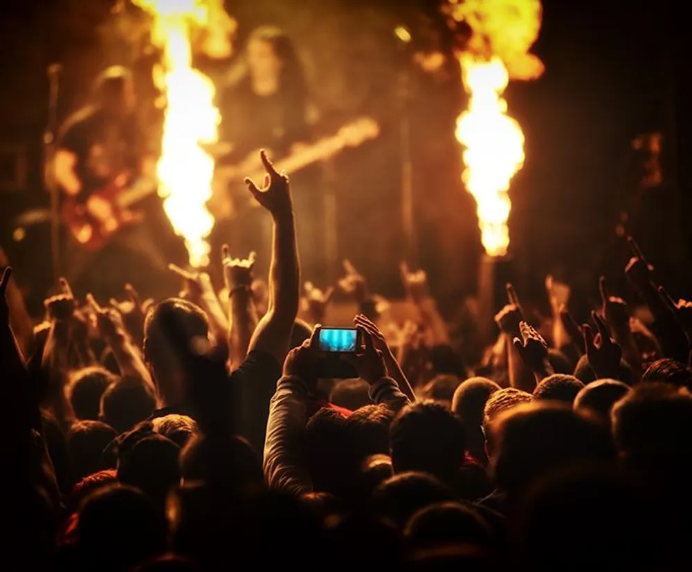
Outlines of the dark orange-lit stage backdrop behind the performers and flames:
{"label": "dark orange-lit stage backdrop behind the performers and flames", "polygon": [[[345,151],[334,163],[338,197],[338,253],[367,274],[374,289],[401,294],[403,256],[399,203],[398,79],[410,53],[397,45],[394,26],[406,24],[412,49],[444,47],[432,1],[234,0],[237,46],[257,25],[277,24],[295,40],[320,128],[336,129],[370,113],[381,122],[377,142]],[[682,8],[673,2],[549,0],[534,48],[545,63],[535,82],[515,82],[505,93],[526,136],[525,167],[511,187],[511,256],[522,290],[538,293],[554,272],[592,293],[601,272],[616,274],[621,245],[612,239],[621,196],[635,184],[630,144],[639,133],[664,133],[659,213],[662,244],[646,244],[650,258],[673,281],[689,272],[682,247],[690,244],[689,113],[682,92]],[[655,8],[655,10],[654,10]],[[24,157],[26,178],[0,191],[0,244],[30,299],[49,285],[48,230],[33,228],[12,240],[12,218],[47,205],[42,190],[41,141],[46,125],[46,67],[63,64],[59,115],[84,102],[95,73],[114,61],[113,23],[104,0],[24,0],[0,8],[0,147]],[[417,230],[421,266],[447,299],[472,293],[480,245],[473,200],[459,183],[454,119],[465,106],[455,64],[435,76],[411,68]],[[3,155],[3,178],[14,164]],[[21,169],[20,169],[21,170]],[[297,178],[300,181],[299,178]],[[660,223],[663,221],[663,223]],[[655,233],[654,233],[655,234]],[[678,248],[672,248],[673,241]],[[646,242],[646,241],[645,241]],[[649,241],[651,242],[651,241]],[[655,241],[654,241],[655,242]],[[660,241],[659,241],[660,242]],[[683,264],[684,263],[684,264]],[[124,277],[129,278],[129,277]],[[307,277],[309,278],[309,277]],[[676,290],[677,288],[677,290]]]}

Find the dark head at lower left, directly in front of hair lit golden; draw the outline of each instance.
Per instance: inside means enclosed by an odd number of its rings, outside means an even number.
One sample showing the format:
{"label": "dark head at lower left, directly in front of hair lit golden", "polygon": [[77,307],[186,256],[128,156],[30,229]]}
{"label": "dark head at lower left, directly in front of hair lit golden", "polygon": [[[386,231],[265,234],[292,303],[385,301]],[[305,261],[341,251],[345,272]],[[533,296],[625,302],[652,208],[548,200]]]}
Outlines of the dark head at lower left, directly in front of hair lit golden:
{"label": "dark head at lower left, directly in front of hair lit golden", "polygon": [[118,481],[134,486],[163,507],[168,491],[180,483],[180,448],[163,435],[149,434],[120,457]]}

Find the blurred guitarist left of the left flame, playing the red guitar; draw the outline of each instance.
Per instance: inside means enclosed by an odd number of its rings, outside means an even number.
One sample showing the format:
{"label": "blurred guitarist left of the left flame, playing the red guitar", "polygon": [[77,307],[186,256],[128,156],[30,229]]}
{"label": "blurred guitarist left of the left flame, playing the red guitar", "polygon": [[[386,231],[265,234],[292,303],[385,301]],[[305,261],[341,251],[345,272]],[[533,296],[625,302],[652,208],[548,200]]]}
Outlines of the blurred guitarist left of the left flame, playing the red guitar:
{"label": "blurred guitarist left of the left flame, playing the red guitar", "polygon": [[[103,71],[94,83],[94,100],[60,128],[54,176],[63,207],[75,203],[80,216],[109,235],[104,248],[89,250],[91,224],[84,228],[71,225],[71,236],[63,240],[65,273],[82,290],[113,295],[122,289],[123,264],[129,275],[152,277],[152,284],[158,282],[152,270],[156,274],[160,270],[161,277],[169,273],[149,221],[133,224],[142,215],[114,209],[99,193],[107,185],[124,187],[138,176],[155,176],[156,158],[145,149],[129,71],[120,66]],[[71,221],[63,223],[70,225]]]}

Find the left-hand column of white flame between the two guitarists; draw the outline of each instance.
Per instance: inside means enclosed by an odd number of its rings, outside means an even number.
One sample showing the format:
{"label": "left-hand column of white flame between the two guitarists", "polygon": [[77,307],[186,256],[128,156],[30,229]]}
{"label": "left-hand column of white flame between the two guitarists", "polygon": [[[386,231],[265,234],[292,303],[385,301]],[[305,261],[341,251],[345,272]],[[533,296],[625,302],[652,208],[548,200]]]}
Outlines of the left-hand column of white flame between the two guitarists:
{"label": "left-hand column of white flame between the two guitarists", "polygon": [[218,28],[217,19],[225,15],[220,2],[134,0],[152,15],[152,42],[163,52],[162,68],[154,74],[166,95],[156,169],[159,192],[165,213],[185,240],[194,267],[208,264],[206,238],[214,225],[214,217],[206,208],[212,195],[214,158],[200,144],[217,141],[221,116],[214,105],[214,84],[192,68],[192,39],[202,30]]}

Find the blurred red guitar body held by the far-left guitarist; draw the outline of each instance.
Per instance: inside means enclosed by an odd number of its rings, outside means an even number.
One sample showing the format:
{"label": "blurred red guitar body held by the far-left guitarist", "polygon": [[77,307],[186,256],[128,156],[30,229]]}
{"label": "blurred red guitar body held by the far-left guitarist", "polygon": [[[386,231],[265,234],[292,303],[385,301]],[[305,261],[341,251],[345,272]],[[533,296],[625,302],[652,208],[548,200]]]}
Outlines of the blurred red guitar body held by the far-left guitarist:
{"label": "blurred red guitar body held by the far-left guitarist", "polygon": [[101,250],[122,226],[141,220],[141,216],[118,203],[125,181],[127,177],[123,175],[114,178],[91,193],[86,202],[71,196],[64,199],[60,212],[62,221],[80,248]]}

